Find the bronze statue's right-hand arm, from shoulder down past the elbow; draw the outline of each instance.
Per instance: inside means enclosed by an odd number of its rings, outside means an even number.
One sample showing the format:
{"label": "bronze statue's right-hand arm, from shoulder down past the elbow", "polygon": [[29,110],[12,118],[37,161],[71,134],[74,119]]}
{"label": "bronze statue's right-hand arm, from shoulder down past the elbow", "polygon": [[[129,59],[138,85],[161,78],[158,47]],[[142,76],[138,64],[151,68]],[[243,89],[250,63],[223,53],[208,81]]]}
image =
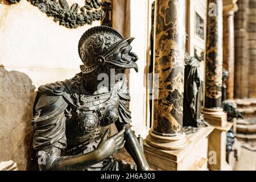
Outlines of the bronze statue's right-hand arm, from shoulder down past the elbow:
{"label": "bronze statue's right-hand arm, from shoulder down past the elbow", "polygon": [[148,171],[149,166],[147,160],[144,156],[142,147],[140,146],[137,137],[134,134],[134,131],[131,130],[131,112],[128,109],[127,102],[130,100],[129,91],[127,89],[127,80],[119,81],[117,84],[117,93],[119,95],[119,109],[118,117],[119,121],[115,122],[118,131],[125,126],[125,148],[134,159],[134,162],[137,164],[138,170]]}

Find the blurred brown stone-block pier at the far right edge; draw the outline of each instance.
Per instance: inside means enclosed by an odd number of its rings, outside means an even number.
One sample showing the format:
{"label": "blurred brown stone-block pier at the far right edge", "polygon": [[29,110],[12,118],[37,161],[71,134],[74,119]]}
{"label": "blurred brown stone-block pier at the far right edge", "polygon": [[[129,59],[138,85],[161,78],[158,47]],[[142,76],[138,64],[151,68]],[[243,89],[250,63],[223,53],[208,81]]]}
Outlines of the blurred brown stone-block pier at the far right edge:
{"label": "blurred brown stone-block pier at the far right edge", "polygon": [[256,98],[256,1],[240,0],[235,16],[235,98]]}

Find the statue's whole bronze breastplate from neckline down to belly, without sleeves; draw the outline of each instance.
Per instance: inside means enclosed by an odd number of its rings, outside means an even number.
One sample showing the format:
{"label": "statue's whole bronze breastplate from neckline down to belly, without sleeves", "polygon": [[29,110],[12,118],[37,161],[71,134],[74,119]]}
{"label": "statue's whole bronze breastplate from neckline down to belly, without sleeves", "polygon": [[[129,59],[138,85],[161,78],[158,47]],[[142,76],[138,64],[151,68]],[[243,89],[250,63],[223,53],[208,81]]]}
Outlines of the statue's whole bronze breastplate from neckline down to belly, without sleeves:
{"label": "statue's whole bronze breastplate from neckline down to belly, without sleeves", "polygon": [[115,91],[93,96],[75,93],[73,98],[77,107],[67,125],[68,148],[71,147],[68,150],[72,155],[87,153],[97,147],[108,126],[118,120],[119,107],[119,96]]}

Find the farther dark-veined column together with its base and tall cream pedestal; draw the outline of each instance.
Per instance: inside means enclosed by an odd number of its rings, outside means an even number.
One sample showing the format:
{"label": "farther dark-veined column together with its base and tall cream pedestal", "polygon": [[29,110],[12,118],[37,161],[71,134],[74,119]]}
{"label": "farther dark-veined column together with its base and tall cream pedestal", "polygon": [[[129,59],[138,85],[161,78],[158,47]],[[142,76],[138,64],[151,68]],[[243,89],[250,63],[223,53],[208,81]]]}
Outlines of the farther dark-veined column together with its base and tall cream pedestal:
{"label": "farther dark-veined column together with its base and tall cream pedestal", "polygon": [[[222,0],[208,0],[207,40],[205,58],[205,105],[202,113],[205,121],[214,127],[209,135],[208,151],[216,152],[216,163],[209,160],[210,170],[227,170],[226,132],[233,123],[221,108],[222,61],[223,61],[223,14]],[[210,13],[215,11],[215,13]],[[225,24],[226,26],[226,24]],[[210,158],[210,153],[208,154]]]}

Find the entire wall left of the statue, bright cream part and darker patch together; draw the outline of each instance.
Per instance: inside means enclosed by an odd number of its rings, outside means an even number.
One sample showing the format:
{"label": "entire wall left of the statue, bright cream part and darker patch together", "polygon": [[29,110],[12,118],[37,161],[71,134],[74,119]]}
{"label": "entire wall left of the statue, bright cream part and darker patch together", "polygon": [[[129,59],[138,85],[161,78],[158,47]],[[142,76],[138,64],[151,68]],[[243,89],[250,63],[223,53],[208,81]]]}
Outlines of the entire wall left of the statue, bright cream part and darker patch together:
{"label": "entire wall left of the statue, bright cream part and darker patch together", "polygon": [[[68,0],[69,6],[82,0]],[[39,85],[80,72],[81,35],[92,26],[60,26],[26,0],[0,4],[0,162],[27,168],[32,139],[32,104]]]}

